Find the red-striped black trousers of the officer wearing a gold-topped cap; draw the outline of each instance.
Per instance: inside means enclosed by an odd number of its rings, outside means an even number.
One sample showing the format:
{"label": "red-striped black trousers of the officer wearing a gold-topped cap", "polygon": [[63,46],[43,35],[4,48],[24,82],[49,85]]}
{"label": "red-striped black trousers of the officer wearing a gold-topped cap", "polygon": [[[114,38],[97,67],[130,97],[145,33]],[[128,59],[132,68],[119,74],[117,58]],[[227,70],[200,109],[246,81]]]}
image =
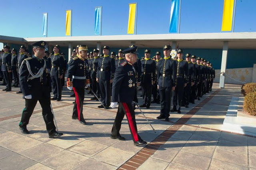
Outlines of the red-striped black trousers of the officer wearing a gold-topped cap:
{"label": "red-striped black trousers of the officer wearing a gold-topped cap", "polygon": [[82,88],[77,88],[73,87],[76,99],[75,99],[75,104],[73,108],[73,115],[72,117],[78,117],[79,121],[84,120],[84,115],[83,115],[83,103],[84,103],[84,87]]}

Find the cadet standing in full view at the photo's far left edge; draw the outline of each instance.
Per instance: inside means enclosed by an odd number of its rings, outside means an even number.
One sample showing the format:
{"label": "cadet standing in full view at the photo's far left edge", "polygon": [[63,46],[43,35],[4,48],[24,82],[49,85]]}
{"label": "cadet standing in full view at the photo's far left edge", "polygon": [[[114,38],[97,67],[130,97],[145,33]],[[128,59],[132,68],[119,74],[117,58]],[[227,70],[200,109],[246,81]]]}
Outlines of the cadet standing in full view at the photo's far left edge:
{"label": "cadet standing in full view at the photo's far left edge", "polygon": [[4,80],[6,83],[6,88],[3,91],[12,90],[12,55],[9,53],[10,47],[4,45],[4,53],[2,54],[2,66],[1,70],[4,75]]}

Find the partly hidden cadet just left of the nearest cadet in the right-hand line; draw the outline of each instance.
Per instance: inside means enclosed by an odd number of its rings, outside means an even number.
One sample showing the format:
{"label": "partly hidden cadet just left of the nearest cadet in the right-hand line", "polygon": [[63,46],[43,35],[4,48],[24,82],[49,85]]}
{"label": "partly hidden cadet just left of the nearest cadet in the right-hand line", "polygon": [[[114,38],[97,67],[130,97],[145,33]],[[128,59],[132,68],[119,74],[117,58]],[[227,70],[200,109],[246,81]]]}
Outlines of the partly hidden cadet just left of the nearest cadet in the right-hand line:
{"label": "partly hidden cadet just left of the nearest cadet in the right-hand line", "polygon": [[[158,69],[158,61],[161,59],[161,53],[159,51],[156,52],[155,56],[156,60],[156,75],[157,75],[157,69]],[[160,104],[160,95],[159,90],[157,88],[157,76],[156,76],[156,82],[152,86],[152,93],[153,93],[153,101],[151,103],[157,103]]]}

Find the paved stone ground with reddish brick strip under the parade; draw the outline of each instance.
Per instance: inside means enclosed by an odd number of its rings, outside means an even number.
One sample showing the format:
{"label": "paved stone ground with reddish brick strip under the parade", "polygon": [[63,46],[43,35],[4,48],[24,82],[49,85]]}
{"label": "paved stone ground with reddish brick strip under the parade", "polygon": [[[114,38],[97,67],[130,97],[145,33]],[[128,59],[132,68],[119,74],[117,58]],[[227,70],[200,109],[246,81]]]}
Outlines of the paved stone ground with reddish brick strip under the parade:
{"label": "paved stone ground with reddish brick strip under the parade", "polygon": [[[110,139],[117,109],[98,109],[99,102],[90,101],[91,95],[86,94],[84,102],[87,125],[72,120],[74,97],[66,89],[62,101],[52,101],[59,131],[65,135],[48,138],[39,103],[28,125],[31,134],[21,134],[18,123],[24,99],[16,94],[18,88],[11,92],[3,88],[0,86],[0,170],[256,169],[256,138],[220,130],[231,98],[240,96],[239,85],[218,89],[214,84],[201,101],[182,107],[182,114],[172,113],[170,122],[156,119],[160,105],[142,109],[156,133],[136,109],[138,132],[149,142],[145,148],[133,145],[126,118],[120,130],[126,141]],[[140,104],[141,97],[139,100]]]}

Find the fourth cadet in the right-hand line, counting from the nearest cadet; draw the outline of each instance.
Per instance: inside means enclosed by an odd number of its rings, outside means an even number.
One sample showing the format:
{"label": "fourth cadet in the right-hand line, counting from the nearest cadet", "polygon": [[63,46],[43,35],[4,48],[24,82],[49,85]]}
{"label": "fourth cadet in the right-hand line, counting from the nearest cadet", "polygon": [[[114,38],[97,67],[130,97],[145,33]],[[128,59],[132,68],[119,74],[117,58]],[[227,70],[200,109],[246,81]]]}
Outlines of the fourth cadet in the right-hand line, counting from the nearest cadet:
{"label": "fourth cadet in the right-hand line, counting from the nearest cadet", "polygon": [[192,55],[191,57],[191,62],[194,64],[195,67],[195,83],[194,85],[192,85],[192,90],[191,90],[191,101],[190,103],[195,103],[195,99],[197,99],[196,97],[196,91],[197,91],[197,86],[200,82],[200,77],[201,77],[201,73],[200,73],[200,66],[196,64],[196,55]]}

